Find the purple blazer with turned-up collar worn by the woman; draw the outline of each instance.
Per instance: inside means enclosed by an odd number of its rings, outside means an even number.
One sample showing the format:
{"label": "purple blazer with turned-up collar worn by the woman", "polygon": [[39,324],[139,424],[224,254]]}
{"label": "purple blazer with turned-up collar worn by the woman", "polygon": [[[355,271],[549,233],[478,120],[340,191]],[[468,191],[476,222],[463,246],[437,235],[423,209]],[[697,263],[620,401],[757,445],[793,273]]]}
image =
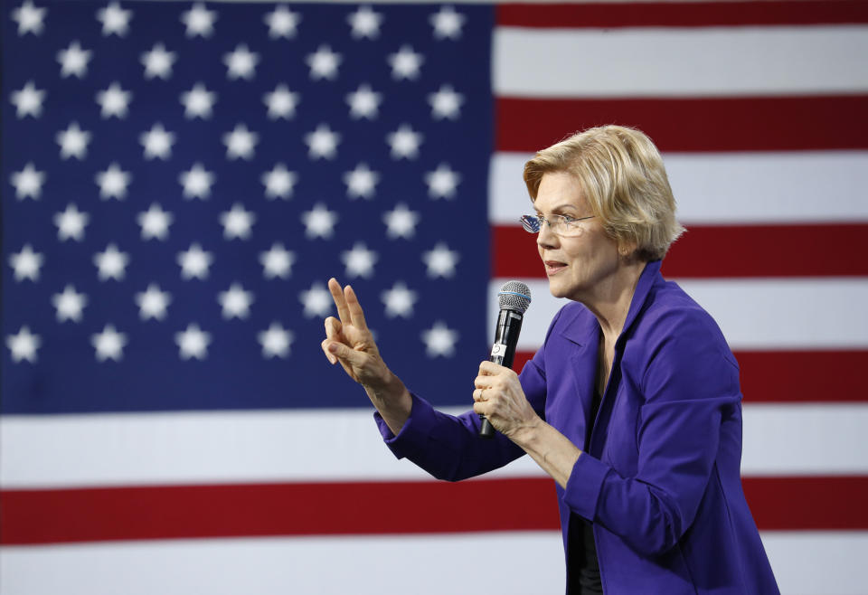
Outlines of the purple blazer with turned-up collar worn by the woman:
{"label": "purple blazer with turned-up collar worn by the woman", "polygon": [[[593,421],[598,345],[597,319],[571,302],[520,375],[533,409],[583,450],[557,487],[567,592],[578,589],[577,515],[593,525],[607,595],[778,594],[741,490],[739,367],[712,317],[649,262]],[[376,417],[392,452],[434,477],[474,477],[524,454],[500,434],[479,439],[473,411],[446,415],[416,395],[398,436]]]}

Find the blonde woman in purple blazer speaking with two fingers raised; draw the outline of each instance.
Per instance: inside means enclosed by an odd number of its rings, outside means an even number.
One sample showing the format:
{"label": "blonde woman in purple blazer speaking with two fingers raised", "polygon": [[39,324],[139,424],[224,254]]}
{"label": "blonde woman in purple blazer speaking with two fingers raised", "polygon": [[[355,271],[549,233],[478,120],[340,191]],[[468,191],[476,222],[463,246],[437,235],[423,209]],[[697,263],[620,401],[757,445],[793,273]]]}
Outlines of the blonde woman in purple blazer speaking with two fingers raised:
{"label": "blonde woman in purple blazer speaking with two fingers raised", "polygon": [[[529,454],[557,483],[568,593],[778,593],[741,491],[739,369],[660,261],[683,231],[656,146],[591,128],[524,166],[522,218],[552,295],[571,302],[520,375],[483,362],[452,417],[383,363],[352,288],[323,349],[360,382],[399,458],[458,480]],[[477,437],[483,414],[499,431]]]}

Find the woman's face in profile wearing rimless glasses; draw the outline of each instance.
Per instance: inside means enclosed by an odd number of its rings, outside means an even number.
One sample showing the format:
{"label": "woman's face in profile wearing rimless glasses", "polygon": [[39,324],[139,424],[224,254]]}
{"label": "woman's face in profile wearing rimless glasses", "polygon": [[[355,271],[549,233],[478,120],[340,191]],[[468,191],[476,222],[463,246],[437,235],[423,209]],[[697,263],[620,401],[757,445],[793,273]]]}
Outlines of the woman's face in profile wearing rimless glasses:
{"label": "woman's face in profile wearing rimless glasses", "polygon": [[[582,196],[578,180],[564,172],[542,176],[533,206],[546,218],[552,215],[580,218],[593,214]],[[618,244],[603,231],[599,217],[576,225],[579,233],[564,238],[543,223],[536,244],[552,295],[587,303],[602,295],[600,290],[616,279],[620,265]]]}

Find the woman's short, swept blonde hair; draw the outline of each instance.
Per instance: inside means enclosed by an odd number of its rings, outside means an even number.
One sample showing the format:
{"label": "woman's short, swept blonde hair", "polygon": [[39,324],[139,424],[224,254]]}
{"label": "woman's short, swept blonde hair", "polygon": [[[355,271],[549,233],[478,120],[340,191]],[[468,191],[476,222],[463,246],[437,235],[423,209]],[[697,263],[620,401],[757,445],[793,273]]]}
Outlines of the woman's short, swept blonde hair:
{"label": "woman's short, swept blonde hair", "polygon": [[661,260],[684,228],[663,158],[651,139],[621,126],[589,128],[542,149],[524,165],[524,184],[536,201],[542,176],[575,176],[591,211],[618,246],[635,244],[641,260]]}

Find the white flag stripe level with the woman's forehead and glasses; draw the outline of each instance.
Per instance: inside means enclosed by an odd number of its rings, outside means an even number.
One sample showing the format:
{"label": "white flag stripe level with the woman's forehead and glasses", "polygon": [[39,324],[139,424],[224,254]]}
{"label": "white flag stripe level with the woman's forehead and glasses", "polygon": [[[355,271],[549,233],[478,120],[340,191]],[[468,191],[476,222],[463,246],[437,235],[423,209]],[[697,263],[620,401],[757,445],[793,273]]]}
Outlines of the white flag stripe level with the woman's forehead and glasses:
{"label": "white flag stripe level with the woman's forehead and glasses", "polygon": [[[533,211],[522,181],[525,153],[497,153],[489,219],[518,225]],[[685,223],[868,221],[868,151],[666,153],[666,173]]]}

